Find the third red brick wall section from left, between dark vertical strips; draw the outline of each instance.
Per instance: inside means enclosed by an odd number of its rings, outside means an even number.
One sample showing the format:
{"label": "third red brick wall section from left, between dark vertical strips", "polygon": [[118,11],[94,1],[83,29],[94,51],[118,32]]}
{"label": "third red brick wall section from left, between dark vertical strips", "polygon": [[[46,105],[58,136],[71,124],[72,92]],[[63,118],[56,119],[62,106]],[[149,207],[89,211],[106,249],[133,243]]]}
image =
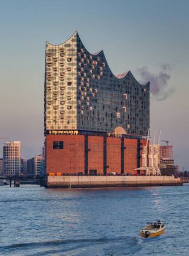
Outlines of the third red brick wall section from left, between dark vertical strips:
{"label": "third red brick wall section from left, between dark vertical strips", "polygon": [[107,137],[107,173],[121,173],[121,139]]}

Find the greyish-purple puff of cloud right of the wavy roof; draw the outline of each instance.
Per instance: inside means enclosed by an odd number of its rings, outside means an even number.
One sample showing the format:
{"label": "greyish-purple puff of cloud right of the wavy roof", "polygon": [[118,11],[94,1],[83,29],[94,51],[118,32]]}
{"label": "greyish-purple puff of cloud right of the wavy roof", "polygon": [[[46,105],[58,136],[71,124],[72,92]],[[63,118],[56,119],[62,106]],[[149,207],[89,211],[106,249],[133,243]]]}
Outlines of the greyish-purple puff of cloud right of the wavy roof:
{"label": "greyish-purple puff of cloud right of the wavy roof", "polygon": [[150,81],[150,92],[156,100],[165,100],[174,93],[174,89],[168,87],[168,81],[171,78],[168,71],[171,70],[171,65],[165,63],[158,66],[160,72],[157,74],[151,73],[148,67],[137,68],[136,72],[142,78],[142,83]]}

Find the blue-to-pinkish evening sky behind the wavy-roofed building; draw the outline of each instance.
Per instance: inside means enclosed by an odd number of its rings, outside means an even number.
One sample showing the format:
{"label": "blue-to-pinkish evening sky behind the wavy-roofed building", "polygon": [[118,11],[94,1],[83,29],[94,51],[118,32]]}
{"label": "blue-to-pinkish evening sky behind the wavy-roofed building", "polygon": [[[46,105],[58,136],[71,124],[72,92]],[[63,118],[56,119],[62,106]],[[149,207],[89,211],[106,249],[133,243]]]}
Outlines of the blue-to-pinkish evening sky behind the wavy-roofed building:
{"label": "blue-to-pinkish evening sky behind the wavy-roofed building", "polygon": [[0,0],[0,156],[7,140],[22,157],[42,152],[45,42],[77,30],[114,74],[151,82],[151,135],[161,129],[189,170],[188,13],[188,0]]}

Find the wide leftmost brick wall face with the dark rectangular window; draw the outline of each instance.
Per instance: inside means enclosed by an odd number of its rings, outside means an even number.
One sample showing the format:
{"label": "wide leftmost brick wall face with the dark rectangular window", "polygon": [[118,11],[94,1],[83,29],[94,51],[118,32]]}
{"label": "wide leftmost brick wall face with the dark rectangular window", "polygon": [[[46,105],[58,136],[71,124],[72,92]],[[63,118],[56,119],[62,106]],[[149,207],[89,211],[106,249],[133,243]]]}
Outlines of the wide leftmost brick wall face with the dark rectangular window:
{"label": "wide leftmost brick wall face with the dark rectangular window", "polygon": [[[63,149],[53,149],[53,141],[63,141]],[[47,173],[84,173],[84,135],[47,135]]]}

